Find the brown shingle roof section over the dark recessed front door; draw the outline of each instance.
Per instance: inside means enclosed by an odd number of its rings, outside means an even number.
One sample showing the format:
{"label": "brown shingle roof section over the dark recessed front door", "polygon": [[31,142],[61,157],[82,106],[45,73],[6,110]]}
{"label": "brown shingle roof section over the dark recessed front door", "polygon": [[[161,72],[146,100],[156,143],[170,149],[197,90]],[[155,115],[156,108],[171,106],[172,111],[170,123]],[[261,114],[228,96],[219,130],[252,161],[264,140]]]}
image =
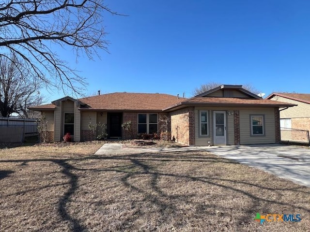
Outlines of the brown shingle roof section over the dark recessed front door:
{"label": "brown shingle roof section over the dark recessed front door", "polygon": [[[95,110],[158,110],[186,99],[162,93],[109,93],[81,98],[88,109]],[[82,108],[82,107],[81,107]]]}

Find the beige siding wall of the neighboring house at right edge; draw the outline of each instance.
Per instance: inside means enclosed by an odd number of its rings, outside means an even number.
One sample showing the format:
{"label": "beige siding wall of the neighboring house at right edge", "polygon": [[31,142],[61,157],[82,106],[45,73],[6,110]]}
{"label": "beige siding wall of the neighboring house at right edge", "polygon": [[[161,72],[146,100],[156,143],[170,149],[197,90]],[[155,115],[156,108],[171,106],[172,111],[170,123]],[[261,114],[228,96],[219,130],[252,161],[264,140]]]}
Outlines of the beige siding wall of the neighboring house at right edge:
{"label": "beige siding wall of the neighboring house at right edge", "polygon": [[271,98],[271,100],[279,102],[287,102],[297,105],[280,111],[280,118],[310,117],[310,104],[308,103],[298,102],[280,96],[275,96]]}

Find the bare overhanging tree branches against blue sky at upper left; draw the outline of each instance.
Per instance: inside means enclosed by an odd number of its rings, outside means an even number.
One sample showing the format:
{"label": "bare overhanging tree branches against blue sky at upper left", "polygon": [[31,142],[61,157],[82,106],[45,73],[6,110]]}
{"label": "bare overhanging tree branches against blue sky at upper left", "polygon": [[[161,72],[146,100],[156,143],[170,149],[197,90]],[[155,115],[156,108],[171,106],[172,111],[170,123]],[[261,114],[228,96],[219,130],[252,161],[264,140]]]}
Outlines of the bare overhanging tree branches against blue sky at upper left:
{"label": "bare overhanging tree branches against blue sky at upper left", "polygon": [[112,12],[104,0],[4,0],[0,3],[1,57],[24,60],[46,87],[79,93],[86,82],[56,53],[73,49],[90,59],[97,49],[107,51],[103,13]]}

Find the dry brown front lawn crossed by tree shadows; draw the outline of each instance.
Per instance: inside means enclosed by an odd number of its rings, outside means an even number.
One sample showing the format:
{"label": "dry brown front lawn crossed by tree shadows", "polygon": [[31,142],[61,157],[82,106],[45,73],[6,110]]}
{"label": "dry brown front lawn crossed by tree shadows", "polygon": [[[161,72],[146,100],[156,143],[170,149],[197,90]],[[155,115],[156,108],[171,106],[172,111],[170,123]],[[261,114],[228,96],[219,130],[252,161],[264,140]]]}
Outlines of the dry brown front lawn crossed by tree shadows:
{"label": "dry brown front lawn crossed by tree shadows", "polygon": [[93,155],[100,146],[0,149],[0,231],[310,231],[310,188],[204,151]]}

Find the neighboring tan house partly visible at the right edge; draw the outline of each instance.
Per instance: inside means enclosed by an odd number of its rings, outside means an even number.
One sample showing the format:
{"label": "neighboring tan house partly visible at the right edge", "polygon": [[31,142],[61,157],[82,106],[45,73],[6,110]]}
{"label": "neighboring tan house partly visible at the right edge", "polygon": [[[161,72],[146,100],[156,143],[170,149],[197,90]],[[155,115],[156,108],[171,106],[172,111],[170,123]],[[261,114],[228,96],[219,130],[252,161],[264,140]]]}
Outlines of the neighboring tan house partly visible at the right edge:
{"label": "neighboring tan house partly visible at the right edge", "polygon": [[266,99],[297,105],[280,111],[281,128],[310,131],[310,94],[272,93]]}

